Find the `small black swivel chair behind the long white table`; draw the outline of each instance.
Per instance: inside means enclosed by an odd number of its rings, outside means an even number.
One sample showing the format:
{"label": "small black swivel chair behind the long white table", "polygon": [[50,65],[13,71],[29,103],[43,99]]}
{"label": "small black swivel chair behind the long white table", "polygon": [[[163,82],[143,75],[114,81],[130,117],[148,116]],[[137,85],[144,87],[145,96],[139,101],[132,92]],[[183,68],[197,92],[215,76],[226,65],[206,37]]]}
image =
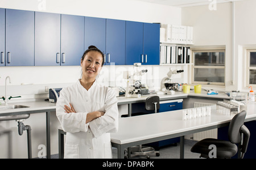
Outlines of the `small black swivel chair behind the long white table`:
{"label": "small black swivel chair behind the long white table", "polygon": [[[146,110],[154,110],[155,113],[157,113],[157,110],[159,110],[160,104],[159,104],[159,96],[150,96],[146,98],[145,101],[145,109]],[[143,115],[147,113],[137,113],[134,115]],[[130,147],[130,153],[133,155],[144,155],[147,158],[150,158],[149,155],[151,154],[156,154],[156,156],[159,156],[159,151],[155,151],[154,148],[152,147],[147,147],[147,146],[134,146]]]}

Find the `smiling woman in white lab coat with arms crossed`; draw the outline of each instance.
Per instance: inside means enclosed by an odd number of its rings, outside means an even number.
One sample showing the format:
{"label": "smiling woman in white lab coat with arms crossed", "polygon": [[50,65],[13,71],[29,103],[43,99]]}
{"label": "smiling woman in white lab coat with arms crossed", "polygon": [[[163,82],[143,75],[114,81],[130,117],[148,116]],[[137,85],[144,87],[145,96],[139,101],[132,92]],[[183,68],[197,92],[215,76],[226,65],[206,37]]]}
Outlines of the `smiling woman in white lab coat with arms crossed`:
{"label": "smiling woman in white lab coat with arms crossed", "polygon": [[63,88],[56,115],[67,132],[64,158],[112,158],[109,132],[118,130],[117,98],[97,82],[103,53],[91,45],[82,56],[82,78]]}

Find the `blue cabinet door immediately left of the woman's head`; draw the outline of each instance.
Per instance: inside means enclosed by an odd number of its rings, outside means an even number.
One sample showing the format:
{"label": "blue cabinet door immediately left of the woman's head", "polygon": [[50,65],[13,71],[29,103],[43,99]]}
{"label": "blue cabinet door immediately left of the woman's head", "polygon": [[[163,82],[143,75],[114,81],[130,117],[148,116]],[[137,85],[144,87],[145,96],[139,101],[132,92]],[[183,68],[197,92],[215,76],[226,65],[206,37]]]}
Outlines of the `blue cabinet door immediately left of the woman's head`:
{"label": "blue cabinet door immediately left of the woman's head", "polygon": [[61,14],[60,65],[80,65],[84,53],[84,16]]}

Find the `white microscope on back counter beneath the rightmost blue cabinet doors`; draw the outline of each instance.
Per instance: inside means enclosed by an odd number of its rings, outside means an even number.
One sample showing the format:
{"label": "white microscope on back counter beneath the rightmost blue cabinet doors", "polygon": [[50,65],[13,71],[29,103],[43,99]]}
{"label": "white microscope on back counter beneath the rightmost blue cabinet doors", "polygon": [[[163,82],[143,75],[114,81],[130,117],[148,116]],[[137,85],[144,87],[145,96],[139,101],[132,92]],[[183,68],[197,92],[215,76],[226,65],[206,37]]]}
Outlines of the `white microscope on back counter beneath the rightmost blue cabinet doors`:
{"label": "white microscope on back counter beneath the rightmost blue cabinet doors", "polygon": [[147,69],[141,69],[141,63],[133,64],[133,75],[128,75],[125,97],[141,97],[149,94],[146,85],[141,84],[141,77],[147,73]]}

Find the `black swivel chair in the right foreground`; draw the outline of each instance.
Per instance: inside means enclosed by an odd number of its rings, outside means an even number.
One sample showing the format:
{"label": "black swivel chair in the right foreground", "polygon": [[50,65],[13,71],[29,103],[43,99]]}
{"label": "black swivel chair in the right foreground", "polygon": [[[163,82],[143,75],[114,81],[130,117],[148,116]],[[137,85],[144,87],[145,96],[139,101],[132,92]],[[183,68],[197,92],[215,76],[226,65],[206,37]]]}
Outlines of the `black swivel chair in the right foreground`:
{"label": "black swivel chair in the right foreground", "polygon": [[[229,124],[229,130],[228,130],[229,141],[212,139],[212,138],[203,139],[197,142],[191,148],[191,152],[201,154],[200,157],[209,158],[209,152],[212,150],[212,148],[209,148],[209,146],[211,144],[214,144],[216,146],[215,158],[231,158],[232,156],[237,154],[238,149],[241,150],[242,152],[241,158],[243,158],[247,150],[247,146],[250,138],[250,131],[245,125],[243,125],[243,122],[245,121],[245,116],[246,116],[245,110],[234,115],[232,121]],[[243,134],[243,140],[242,140],[242,134]],[[236,144],[241,144],[238,147],[238,149]],[[240,157],[240,155],[238,155],[238,157]]]}

